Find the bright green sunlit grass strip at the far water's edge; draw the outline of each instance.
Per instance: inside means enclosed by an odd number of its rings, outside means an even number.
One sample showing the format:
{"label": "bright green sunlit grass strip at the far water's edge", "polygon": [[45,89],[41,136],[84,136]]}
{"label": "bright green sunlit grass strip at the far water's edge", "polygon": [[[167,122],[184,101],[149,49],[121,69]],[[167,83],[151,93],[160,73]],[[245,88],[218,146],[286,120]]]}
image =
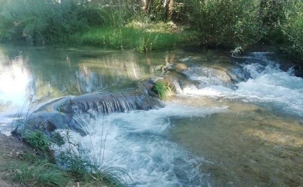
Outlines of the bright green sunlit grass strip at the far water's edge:
{"label": "bright green sunlit grass strip at the far water's edge", "polygon": [[153,31],[133,26],[96,28],[75,37],[84,44],[114,49],[135,49],[141,52],[171,48],[180,43],[181,40],[175,33]]}

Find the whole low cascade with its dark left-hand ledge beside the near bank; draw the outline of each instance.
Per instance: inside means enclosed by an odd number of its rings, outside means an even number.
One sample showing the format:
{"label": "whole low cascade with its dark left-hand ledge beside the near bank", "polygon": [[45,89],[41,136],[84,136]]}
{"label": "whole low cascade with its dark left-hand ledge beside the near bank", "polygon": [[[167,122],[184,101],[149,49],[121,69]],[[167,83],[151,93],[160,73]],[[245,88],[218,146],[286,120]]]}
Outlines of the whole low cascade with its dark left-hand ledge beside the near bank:
{"label": "whole low cascade with its dark left-hand ledge beside the near bank", "polygon": [[40,130],[50,134],[56,129],[68,128],[85,136],[89,134],[87,124],[101,114],[162,107],[162,103],[157,98],[149,96],[146,89],[140,87],[121,93],[92,93],[59,98],[41,105],[28,119],[19,122],[22,123],[21,126],[26,125],[26,129],[31,131]]}

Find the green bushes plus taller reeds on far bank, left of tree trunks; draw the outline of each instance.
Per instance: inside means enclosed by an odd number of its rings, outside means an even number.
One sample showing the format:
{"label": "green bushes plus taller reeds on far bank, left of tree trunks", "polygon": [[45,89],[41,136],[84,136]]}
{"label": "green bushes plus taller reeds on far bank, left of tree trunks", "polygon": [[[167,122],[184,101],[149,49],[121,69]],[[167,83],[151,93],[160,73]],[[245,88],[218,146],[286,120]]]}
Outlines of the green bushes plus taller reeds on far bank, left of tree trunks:
{"label": "green bushes plus taller reeds on far bank, left of tree trunks", "polygon": [[[131,16],[129,1],[10,0],[0,8],[0,41],[73,42],[71,35],[96,25],[120,26]],[[2,4],[1,4],[2,6]]]}

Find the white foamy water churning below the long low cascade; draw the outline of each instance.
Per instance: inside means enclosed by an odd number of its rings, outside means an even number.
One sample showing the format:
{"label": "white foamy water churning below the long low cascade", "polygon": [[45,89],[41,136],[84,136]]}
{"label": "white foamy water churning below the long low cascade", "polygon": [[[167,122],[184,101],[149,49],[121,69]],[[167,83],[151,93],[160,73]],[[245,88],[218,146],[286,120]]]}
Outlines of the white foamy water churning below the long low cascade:
{"label": "white foamy water churning below the long low cascade", "polygon": [[134,187],[208,187],[209,176],[199,171],[203,158],[186,152],[167,136],[170,119],[226,111],[226,107],[197,108],[168,102],[159,110],[99,118],[89,124],[90,136],[72,136],[87,147],[91,157],[99,153],[106,137],[102,167],[126,169],[135,181]]}

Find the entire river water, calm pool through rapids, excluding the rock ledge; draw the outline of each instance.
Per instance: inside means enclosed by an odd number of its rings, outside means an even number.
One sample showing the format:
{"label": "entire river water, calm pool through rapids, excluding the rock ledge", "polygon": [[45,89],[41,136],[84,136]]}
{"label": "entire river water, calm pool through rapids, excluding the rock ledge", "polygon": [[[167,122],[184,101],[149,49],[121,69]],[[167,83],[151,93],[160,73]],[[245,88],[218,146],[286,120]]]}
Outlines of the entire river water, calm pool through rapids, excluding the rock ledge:
{"label": "entire river water, calm pool through rapids, excluding the rock ledge", "polygon": [[269,52],[0,45],[0,130],[25,101],[119,93],[168,63],[186,64],[194,84],[162,108],[88,120],[90,135],[72,136],[89,155],[106,138],[102,166],[127,170],[134,187],[302,187],[303,79]]}

